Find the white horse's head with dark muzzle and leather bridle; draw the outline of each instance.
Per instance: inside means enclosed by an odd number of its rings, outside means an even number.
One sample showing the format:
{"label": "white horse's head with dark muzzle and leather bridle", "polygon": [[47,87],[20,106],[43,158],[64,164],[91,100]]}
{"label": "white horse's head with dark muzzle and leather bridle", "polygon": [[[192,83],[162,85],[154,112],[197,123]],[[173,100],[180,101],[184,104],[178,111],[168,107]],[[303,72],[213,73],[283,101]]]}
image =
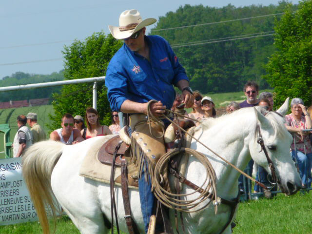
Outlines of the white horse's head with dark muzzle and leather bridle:
{"label": "white horse's head with dark muzzle and leather bridle", "polygon": [[[269,173],[271,172],[269,164],[272,162],[281,191],[292,195],[301,188],[301,179],[290,154],[292,136],[284,125],[283,117],[288,111],[288,104],[289,98],[277,113],[267,112],[263,108],[254,108],[258,127],[255,131],[254,143],[250,144],[250,153],[254,161]],[[259,137],[263,139],[265,149],[262,149]]]}

